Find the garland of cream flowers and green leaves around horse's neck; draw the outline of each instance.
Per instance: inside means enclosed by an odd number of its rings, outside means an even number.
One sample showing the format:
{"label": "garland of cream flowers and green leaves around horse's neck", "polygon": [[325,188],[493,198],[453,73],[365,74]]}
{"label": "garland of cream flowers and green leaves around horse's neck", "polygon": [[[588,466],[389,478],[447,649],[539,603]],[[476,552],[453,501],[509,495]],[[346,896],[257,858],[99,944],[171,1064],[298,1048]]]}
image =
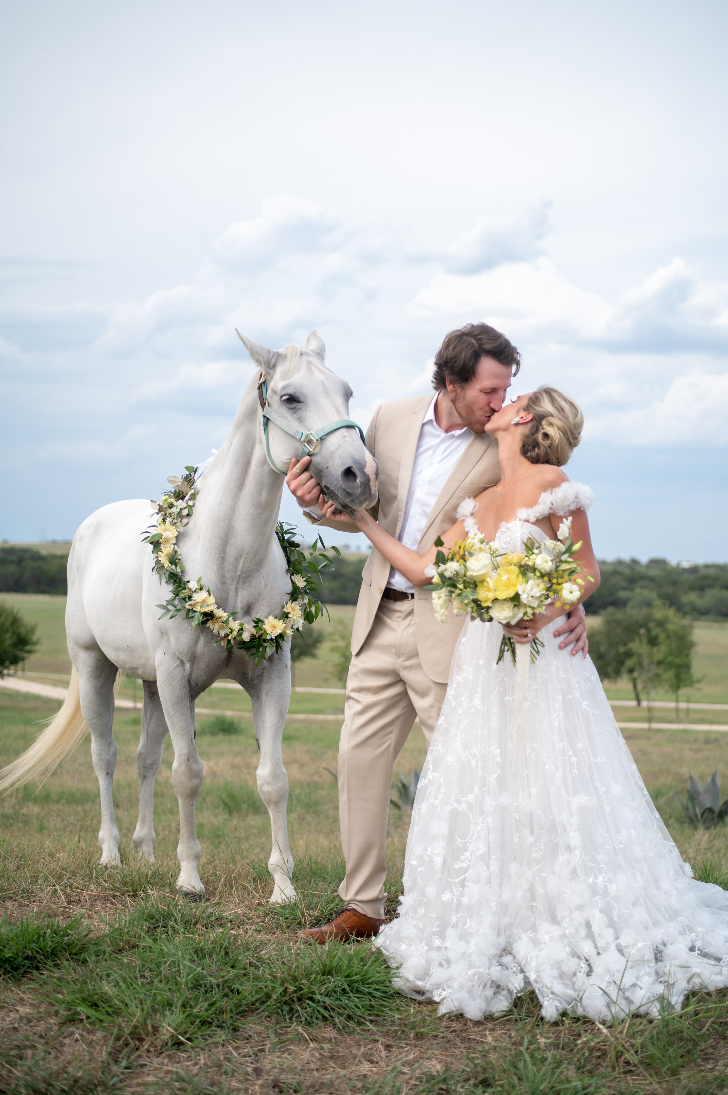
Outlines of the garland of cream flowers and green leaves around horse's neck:
{"label": "garland of cream flowers and green leaves around horse's neck", "polygon": [[[174,619],[184,614],[193,627],[209,627],[226,649],[239,647],[249,657],[254,657],[257,665],[261,658],[278,653],[286,639],[303,626],[313,623],[325,611],[319,599],[319,587],[315,578],[324,567],[333,566],[326,545],[321,537],[314,540],[307,557],[296,539],[292,526],[278,521],[276,535],[286,556],[286,566],[291,579],[291,597],[281,609],[280,616],[269,615],[265,620],[255,618],[252,623],[241,623],[235,620],[235,612],[226,612],[218,607],[215,596],[201,578],[196,583],[187,581],[184,576],[184,563],[176,545],[180,530],[193,516],[197,489],[195,484],[195,468],[185,466],[185,474],[180,479],[170,475],[167,483],[172,491],[165,492],[160,502],[152,499],[151,505],[159,515],[157,525],[150,526],[142,540],[151,545],[154,557],[153,572],[164,578],[172,587],[172,596],[157,607],[162,609],[163,619],[169,615]],[[338,548],[331,549],[340,556]]]}

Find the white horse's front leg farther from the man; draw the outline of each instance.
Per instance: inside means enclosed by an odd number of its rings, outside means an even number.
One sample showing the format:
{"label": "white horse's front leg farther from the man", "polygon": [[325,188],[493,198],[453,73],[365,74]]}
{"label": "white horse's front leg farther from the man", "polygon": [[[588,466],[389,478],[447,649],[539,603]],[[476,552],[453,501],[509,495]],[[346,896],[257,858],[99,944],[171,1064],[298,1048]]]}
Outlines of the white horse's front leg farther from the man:
{"label": "white horse's front leg farther from the man", "polygon": [[203,785],[203,762],[195,745],[195,703],[185,668],[169,650],[157,659],[157,687],[174,749],[172,786],[180,803],[176,885],[177,889],[204,894],[197,872],[203,850],[195,829],[195,803]]}

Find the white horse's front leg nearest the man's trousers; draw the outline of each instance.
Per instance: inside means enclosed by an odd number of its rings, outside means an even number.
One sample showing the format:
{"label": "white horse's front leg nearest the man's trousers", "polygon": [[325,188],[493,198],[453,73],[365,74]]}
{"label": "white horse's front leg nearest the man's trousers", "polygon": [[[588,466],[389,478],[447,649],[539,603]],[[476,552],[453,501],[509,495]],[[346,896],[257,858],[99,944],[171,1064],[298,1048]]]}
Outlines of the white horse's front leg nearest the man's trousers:
{"label": "white horse's front leg nearest the man's trousers", "polygon": [[268,860],[268,871],[274,881],[270,903],[284,904],[296,900],[296,890],[291,881],[293,860],[288,846],[286,820],[288,776],[281,756],[284,724],[291,694],[288,647],[286,646],[281,654],[268,658],[262,671],[255,675],[246,688],[253,701],[255,739],[261,750],[256,773],[258,791],[270,815],[273,850]]}

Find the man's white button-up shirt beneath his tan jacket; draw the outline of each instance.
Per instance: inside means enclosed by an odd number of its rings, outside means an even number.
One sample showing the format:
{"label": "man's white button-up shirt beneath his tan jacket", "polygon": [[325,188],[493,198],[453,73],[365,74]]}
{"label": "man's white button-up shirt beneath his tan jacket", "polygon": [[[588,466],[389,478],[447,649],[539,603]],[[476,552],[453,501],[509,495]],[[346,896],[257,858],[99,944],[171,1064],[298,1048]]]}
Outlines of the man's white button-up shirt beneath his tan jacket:
{"label": "man's white button-up shirt beneath his tan jacket", "polygon": [[[397,537],[401,544],[404,544],[405,548],[412,548],[413,551],[417,551],[417,544],[425,531],[427,518],[440,491],[473,436],[466,426],[463,426],[462,429],[453,429],[450,434],[440,429],[435,420],[435,404],[438,394],[439,392],[436,392],[432,397],[419,430],[417,452],[407,491],[407,503],[404,507],[404,518]],[[405,576],[395,570],[394,567],[390,568],[386,585],[390,589],[402,589],[406,593],[415,591],[412,583],[407,581]]]}

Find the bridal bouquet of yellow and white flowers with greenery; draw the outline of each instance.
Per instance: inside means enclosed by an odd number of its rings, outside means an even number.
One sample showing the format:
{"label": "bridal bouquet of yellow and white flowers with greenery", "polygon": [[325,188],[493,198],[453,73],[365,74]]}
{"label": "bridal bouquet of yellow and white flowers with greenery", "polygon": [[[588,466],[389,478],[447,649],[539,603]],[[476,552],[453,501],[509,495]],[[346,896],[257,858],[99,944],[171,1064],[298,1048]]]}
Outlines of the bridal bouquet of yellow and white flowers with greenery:
{"label": "bridal bouquet of yellow and white flowers with greenery", "polygon": [[[450,603],[455,615],[469,613],[473,620],[504,624],[531,620],[554,600],[565,607],[574,604],[583,579],[574,560],[581,541],[571,541],[570,517],[562,521],[557,537],[543,543],[529,538],[523,552],[501,552],[473,529],[447,555],[438,551],[425,572],[432,579],[428,588],[438,620],[444,621]],[[439,537],[435,545],[443,546]],[[533,656],[542,646],[539,638],[532,639]],[[516,664],[515,643],[508,635],[504,635],[498,661],[506,650]]]}

